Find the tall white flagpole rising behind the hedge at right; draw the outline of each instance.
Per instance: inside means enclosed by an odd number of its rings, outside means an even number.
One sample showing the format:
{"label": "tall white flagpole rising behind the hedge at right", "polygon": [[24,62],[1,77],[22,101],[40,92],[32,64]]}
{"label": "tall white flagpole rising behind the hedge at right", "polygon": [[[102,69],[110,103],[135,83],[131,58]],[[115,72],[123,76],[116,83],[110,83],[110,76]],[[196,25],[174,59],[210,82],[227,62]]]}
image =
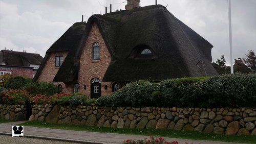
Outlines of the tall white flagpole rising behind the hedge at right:
{"label": "tall white flagpole rising behind the hedge at right", "polygon": [[228,0],[228,22],[229,22],[229,46],[230,46],[230,72],[231,72],[231,74],[234,74],[233,53],[232,53],[231,2],[230,2],[230,0]]}

